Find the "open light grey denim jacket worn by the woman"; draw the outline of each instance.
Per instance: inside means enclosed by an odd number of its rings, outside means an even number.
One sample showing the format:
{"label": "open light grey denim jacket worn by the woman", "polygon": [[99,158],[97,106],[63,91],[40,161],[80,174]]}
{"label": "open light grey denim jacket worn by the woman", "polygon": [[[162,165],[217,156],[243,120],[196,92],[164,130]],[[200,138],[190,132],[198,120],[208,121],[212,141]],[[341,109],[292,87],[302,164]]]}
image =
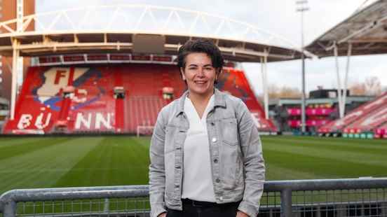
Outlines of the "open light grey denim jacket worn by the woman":
{"label": "open light grey denim jacket worn by the woman", "polygon": [[[169,209],[182,210],[183,145],[189,121],[182,97],[165,106],[151,138],[149,194],[151,217]],[[216,202],[240,202],[238,210],[257,216],[264,189],[261,140],[242,100],[215,89],[207,116],[212,181]]]}

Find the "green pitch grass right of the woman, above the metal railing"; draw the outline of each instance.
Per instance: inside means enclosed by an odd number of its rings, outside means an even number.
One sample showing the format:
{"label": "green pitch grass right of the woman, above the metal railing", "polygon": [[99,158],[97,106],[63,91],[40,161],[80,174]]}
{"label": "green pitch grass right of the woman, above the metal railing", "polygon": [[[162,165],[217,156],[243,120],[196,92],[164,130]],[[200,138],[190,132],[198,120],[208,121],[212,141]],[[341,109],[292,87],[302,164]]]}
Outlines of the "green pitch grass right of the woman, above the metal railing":
{"label": "green pitch grass right of the woman, above the metal railing", "polygon": [[266,179],[387,176],[387,141],[319,137],[264,137]]}

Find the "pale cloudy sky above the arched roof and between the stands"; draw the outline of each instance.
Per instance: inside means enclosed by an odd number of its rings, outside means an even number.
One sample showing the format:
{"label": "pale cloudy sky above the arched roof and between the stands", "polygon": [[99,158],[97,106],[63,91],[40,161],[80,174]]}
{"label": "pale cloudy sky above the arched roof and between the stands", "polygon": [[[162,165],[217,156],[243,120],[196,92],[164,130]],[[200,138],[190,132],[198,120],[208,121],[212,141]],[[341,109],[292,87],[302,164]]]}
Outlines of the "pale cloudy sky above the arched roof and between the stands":
{"label": "pale cloudy sky above the arched roof and between the stands", "polygon": [[[309,10],[304,14],[304,44],[345,20],[362,3],[374,0],[308,0]],[[154,6],[172,6],[198,10],[241,22],[287,38],[301,47],[301,17],[296,13],[295,0],[195,0],[195,1],[132,1],[132,0],[36,0],[36,13],[83,6],[106,6],[141,3]],[[362,83],[367,77],[376,76],[381,85],[387,86],[387,55],[351,57],[348,84]],[[243,63],[243,69],[256,94],[262,93],[261,67],[257,63]],[[341,80],[344,80],[346,57],[339,58]],[[301,90],[301,61],[269,63],[268,83],[278,86],[297,87]],[[337,87],[334,58],[306,60],[306,92],[317,86]]]}

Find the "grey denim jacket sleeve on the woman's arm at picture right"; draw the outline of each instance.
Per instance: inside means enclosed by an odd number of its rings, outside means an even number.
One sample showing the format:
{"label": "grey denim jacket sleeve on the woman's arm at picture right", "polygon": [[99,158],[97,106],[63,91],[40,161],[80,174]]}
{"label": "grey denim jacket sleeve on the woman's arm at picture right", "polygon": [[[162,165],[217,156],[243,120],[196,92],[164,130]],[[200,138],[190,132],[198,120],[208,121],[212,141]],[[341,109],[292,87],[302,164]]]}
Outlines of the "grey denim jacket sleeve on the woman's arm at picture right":
{"label": "grey denim jacket sleeve on the woman's arm at picture right", "polygon": [[259,212],[259,201],[264,190],[265,165],[262,144],[257,127],[245,103],[240,100],[236,109],[245,176],[243,200],[238,210],[250,217],[255,217]]}

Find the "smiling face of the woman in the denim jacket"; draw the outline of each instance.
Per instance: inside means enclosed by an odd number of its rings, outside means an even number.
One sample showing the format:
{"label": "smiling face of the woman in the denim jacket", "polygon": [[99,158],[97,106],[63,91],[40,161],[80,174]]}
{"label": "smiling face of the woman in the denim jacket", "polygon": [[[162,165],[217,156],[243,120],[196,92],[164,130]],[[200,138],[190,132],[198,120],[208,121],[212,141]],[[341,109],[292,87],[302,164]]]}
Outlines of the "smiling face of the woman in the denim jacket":
{"label": "smiling face of the woman in the denim jacket", "polygon": [[217,73],[211,58],[204,52],[192,52],[186,55],[185,61],[185,68],[181,71],[189,92],[201,95],[212,93]]}

